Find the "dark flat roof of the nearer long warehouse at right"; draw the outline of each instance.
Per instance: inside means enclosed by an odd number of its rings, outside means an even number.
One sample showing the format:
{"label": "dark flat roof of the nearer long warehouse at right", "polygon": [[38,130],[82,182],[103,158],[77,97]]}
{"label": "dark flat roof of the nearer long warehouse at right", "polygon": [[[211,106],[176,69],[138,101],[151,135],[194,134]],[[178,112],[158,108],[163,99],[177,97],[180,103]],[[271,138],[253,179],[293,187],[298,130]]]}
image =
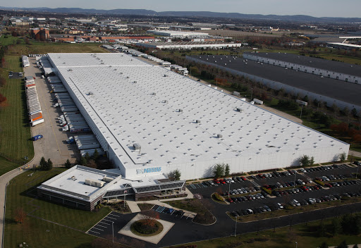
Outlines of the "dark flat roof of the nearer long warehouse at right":
{"label": "dark flat roof of the nearer long warehouse at right", "polygon": [[257,75],[268,80],[281,82],[284,85],[305,89],[309,92],[361,106],[361,85],[353,84],[351,82],[320,77],[319,75],[312,75],[311,73],[304,73],[296,70],[286,70],[280,66],[258,63],[257,61],[236,58],[233,56],[203,55],[191,57],[206,61],[207,63],[214,63],[250,75]]}

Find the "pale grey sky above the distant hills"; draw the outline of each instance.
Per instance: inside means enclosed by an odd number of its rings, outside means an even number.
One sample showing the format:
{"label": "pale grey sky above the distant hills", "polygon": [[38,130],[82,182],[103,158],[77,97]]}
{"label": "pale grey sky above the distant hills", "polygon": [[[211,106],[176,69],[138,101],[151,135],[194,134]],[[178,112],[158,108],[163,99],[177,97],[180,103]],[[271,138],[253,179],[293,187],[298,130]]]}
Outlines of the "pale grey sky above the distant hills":
{"label": "pale grey sky above the distant hills", "polygon": [[12,0],[6,7],[144,8],[153,11],[214,11],[248,14],[361,18],[361,0]]}

